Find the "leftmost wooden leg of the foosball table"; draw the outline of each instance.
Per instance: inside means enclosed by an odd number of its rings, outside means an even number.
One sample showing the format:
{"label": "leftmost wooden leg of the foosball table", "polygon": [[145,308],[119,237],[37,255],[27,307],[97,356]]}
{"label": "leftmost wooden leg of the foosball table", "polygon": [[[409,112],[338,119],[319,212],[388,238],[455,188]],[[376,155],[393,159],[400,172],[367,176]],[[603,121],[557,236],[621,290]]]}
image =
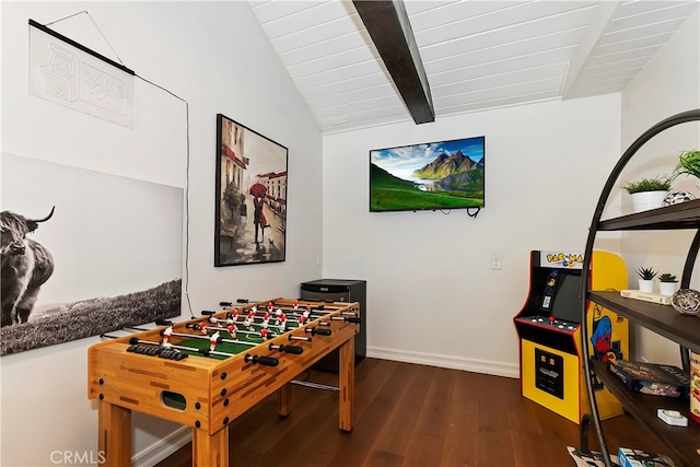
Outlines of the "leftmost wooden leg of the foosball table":
{"label": "leftmost wooden leg of the foosball table", "polygon": [[97,441],[105,467],[131,465],[131,410],[100,400]]}

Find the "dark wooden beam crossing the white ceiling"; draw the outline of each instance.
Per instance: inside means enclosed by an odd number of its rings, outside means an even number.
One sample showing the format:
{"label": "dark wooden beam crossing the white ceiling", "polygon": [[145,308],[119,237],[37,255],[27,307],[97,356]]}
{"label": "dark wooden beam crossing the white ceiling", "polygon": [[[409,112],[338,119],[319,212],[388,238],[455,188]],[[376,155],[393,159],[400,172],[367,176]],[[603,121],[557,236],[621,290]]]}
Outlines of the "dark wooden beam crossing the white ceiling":
{"label": "dark wooden beam crossing the white ceiling", "polygon": [[353,0],[404,104],[417,125],[435,121],[433,100],[413,31],[400,0]]}

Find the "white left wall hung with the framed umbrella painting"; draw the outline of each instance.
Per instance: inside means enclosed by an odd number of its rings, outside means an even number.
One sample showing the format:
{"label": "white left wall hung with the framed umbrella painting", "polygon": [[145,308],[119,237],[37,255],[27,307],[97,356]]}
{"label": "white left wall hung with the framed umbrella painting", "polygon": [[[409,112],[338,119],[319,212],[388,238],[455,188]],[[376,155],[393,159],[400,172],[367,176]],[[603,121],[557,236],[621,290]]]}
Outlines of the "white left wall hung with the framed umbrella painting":
{"label": "white left wall hung with the framed umbrella painting", "polygon": [[[317,279],[322,242],[322,137],[247,2],[2,2],[2,151],[185,187],[189,125],[191,310],[221,300],[298,296]],[[187,101],[140,81],[137,129],[28,95],[28,25],[88,11],[124,63]],[[116,59],[85,14],[50,26]],[[215,114],[289,148],[287,261],[213,267]],[[140,132],[147,125],[150,131]],[[160,143],[152,145],[153,136]],[[128,144],[124,144],[127,140]],[[136,150],[133,150],[136,148]],[[31,180],[27,180],[31,183]],[[189,311],[184,312],[184,317]],[[46,466],[55,451],[96,458],[96,404],[88,400],[86,339],[7,355],[1,367],[3,466]],[[138,465],[175,425],[135,416]],[[167,440],[166,440],[167,443]]]}

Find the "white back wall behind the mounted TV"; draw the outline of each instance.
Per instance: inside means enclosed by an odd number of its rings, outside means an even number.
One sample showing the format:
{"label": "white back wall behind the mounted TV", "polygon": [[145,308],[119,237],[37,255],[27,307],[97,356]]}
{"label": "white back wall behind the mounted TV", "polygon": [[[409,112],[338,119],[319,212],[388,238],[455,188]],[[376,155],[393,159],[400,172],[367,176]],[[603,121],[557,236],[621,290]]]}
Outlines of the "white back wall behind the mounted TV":
{"label": "white back wall behind the mounted TV", "polygon": [[[369,212],[371,149],[480,135],[476,219]],[[529,252],[583,252],[619,135],[619,95],[607,95],[325,136],[324,276],[368,280],[368,354],[517,376]]]}

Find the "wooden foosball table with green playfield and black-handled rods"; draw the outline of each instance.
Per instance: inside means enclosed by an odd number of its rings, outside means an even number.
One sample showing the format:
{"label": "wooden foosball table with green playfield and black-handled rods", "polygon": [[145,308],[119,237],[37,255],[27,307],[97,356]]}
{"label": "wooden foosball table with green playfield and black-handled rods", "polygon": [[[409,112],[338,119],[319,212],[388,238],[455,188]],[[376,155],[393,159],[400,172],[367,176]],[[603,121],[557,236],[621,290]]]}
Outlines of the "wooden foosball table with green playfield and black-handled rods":
{"label": "wooden foosball table with green playfield and black-handled rods", "polygon": [[106,466],[131,464],[131,412],[192,429],[192,465],[229,465],[229,425],[277,392],[292,410],[291,384],[339,349],[339,428],[354,424],[355,303],[273,299],[222,302],[188,322],[95,343],[89,349],[89,397],[98,399],[98,448]]}

